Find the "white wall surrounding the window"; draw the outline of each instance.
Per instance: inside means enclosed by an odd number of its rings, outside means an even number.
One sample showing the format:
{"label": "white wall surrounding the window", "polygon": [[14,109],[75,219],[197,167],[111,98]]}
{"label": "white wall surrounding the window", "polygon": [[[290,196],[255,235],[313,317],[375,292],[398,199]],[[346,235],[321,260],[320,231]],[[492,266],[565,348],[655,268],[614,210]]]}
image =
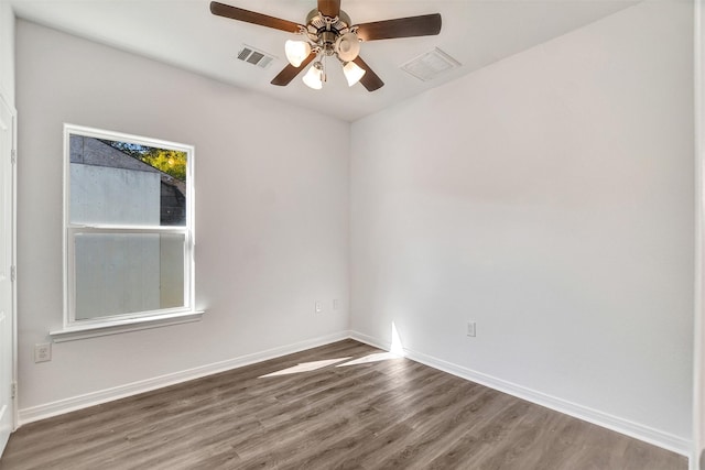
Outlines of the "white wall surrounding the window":
{"label": "white wall surrounding the window", "polygon": [[[32,23],[17,28],[21,418],[345,334],[348,156],[308,149],[312,129],[347,149],[347,123]],[[34,345],[62,326],[64,122],[195,146],[196,306],[206,315],[55,343],[53,360],[35,364]]]}

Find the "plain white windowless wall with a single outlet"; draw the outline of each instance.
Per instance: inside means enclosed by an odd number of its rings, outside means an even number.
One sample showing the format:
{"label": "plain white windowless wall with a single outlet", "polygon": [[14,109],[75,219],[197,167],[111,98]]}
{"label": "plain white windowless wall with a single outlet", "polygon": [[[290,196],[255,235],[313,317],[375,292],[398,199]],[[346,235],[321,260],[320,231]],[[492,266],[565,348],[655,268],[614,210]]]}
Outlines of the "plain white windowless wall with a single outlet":
{"label": "plain white windowless wall with a single outlet", "polygon": [[642,3],[355,122],[352,330],[687,453],[692,41]]}

